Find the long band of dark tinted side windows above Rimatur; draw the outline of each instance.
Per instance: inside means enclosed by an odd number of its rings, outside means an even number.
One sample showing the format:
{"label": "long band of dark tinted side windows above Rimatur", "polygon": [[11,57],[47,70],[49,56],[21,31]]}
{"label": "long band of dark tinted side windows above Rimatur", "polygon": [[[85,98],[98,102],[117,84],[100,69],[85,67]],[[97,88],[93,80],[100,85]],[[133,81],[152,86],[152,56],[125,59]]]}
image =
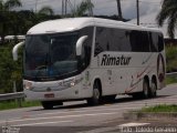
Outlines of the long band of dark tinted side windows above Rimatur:
{"label": "long band of dark tinted side windows above Rimatur", "polygon": [[163,49],[163,35],[159,33],[96,28],[95,55],[103,51],[157,52]]}

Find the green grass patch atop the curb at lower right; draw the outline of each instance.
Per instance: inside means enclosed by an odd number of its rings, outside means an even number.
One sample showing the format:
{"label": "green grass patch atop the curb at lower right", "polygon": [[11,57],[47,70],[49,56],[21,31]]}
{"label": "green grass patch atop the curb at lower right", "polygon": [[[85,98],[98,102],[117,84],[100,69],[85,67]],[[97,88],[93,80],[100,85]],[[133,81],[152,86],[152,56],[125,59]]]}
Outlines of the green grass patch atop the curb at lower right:
{"label": "green grass patch atop the curb at lower right", "polygon": [[139,112],[152,112],[152,113],[159,113],[159,112],[176,112],[177,113],[177,105],[155,105],[149,108],[143,108]]}

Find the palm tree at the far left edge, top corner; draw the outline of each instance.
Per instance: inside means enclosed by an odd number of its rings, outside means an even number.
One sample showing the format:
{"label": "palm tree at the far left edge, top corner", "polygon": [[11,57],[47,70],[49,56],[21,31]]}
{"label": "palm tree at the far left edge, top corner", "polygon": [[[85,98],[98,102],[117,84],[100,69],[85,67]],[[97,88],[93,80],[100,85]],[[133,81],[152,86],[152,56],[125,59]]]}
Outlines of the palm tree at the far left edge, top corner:
{"label": "palm tree at the far left edge, top corner", "polygon": [[4,35],[8,31],[8,27],[11,20],[10,11],[17,7],[21,7],[20,0],[0,0],[0,37],[1,42],[4,42]]}

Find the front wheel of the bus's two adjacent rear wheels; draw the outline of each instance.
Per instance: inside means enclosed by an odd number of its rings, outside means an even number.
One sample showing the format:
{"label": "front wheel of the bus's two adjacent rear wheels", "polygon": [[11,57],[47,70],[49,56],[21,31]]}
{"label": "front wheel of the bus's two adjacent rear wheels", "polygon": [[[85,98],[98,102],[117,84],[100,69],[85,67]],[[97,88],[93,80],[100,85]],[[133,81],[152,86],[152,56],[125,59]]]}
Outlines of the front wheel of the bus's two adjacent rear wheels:
{"label": "front wheel of the bus's two adjacent rear wheels", "polygon": [[149,83],[146,79],[143,81],[143,98],[148,99],[149,98]]}

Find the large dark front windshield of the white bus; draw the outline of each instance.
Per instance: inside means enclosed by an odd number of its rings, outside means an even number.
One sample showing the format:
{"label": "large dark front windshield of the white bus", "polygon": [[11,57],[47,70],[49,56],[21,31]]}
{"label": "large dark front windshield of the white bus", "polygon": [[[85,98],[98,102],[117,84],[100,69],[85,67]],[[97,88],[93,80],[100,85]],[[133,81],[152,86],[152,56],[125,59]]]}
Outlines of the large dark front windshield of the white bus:
{"label": "large dark front windshield of the white bus", "polygon": [[27,35],[24,76],[52,79],[75,73],[77,39],[77,32]]}

